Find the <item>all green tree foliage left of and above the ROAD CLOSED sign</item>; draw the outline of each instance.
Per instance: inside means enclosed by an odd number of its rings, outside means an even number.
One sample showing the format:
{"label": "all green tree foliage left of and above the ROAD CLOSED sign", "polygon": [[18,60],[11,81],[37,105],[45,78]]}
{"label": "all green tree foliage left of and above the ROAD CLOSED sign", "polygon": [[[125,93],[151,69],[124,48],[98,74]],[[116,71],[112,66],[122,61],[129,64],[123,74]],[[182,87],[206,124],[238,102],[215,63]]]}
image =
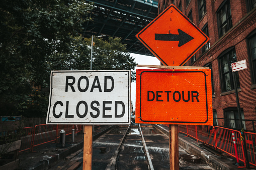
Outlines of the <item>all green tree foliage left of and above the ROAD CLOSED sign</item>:
{"label": "all green tree foliage left of and above the ROAD CLOSED sign", "polygon": [[[0,116],[45,116],[51,70],[90,70],[91,39],[79,36],[85,0],[0,0]],[[95,38],[93,70],[134,70],[119,38]],[[132,72],[135,80],[135,72]]]}

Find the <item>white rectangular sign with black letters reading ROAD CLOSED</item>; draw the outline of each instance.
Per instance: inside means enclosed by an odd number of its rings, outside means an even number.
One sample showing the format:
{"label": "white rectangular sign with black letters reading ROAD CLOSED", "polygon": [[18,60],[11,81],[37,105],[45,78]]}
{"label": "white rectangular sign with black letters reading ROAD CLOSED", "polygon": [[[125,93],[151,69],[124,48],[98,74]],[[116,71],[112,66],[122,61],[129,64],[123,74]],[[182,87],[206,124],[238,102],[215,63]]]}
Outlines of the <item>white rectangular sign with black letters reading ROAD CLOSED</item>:
{"label": "white rectangular sign with black letters reading ROAD CLOSED", "polygon": [[130,75],[51,71],[46,124],[130,124]]}

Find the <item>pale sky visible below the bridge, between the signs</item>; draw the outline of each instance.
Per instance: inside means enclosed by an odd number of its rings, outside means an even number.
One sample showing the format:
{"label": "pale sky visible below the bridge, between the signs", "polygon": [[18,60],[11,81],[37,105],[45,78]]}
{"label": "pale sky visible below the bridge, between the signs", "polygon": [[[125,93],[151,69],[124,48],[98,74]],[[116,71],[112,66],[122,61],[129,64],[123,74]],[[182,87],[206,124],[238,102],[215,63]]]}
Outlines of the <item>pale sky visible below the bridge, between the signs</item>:
{"label": "pale sky visible below the bridge, between the signs", "polygon": [[[132,58],[135,58],[135,62],[138,65],[160,65],[160,61],[156,57],[144,56],[139,54],[130,53]],[[152,69],[148,67],[135,67],[136,69]],[[136,103],[136,82],[131,83],[131,101],[133,104],[133,110],[135,110]]]}

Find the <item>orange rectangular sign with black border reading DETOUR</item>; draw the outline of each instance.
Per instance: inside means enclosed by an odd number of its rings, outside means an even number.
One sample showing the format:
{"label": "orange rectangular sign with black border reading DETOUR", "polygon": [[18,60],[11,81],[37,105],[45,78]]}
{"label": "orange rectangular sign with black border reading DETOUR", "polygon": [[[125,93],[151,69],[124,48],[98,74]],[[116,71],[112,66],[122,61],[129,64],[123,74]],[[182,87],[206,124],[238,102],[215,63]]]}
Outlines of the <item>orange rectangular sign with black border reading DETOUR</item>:
{"label": "orange rectangular sign with black border reading DETOUR", "polygon": [[136,70],[136,123],[212,125],[211,70]]}

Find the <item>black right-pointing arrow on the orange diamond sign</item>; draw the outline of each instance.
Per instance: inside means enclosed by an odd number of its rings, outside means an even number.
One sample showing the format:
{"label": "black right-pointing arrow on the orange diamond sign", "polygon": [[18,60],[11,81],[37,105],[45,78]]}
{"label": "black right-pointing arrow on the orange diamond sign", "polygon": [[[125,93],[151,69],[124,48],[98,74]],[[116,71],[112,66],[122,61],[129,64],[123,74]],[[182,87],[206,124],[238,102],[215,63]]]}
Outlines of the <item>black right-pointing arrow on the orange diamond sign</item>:
{"label": "black right-pointing arrow on the orange diamond sign", "polygon": [[178,47],[183,46],[194,38],[178,29],[179,34],[155,34],[155,40],[160,41],[179,41]]}

